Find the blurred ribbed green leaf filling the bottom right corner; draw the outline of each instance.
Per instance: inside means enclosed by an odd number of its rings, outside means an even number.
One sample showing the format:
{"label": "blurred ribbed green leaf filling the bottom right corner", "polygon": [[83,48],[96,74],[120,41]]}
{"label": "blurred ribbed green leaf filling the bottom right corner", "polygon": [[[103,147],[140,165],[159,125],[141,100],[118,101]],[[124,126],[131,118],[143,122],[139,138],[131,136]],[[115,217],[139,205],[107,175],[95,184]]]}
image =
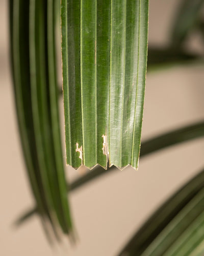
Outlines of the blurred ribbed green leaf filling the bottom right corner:
{"label": "blurred ribbed green leaf filling the bottom right corner", "polygon": [[[119,255],[135,255],[136,252],[137,255],[190,255],[204,236],[203,229],[200,232],[194,232],[197,218],[200,225],[204,221],[203,186],[204,170],[167,200],[140,228]],[[187,245],[190,239],[197,242]],[[178,243],[177,240],[179,240]],[[188,248],[185,248],[186,246]],[[179,254],[173,253],[176,250],[180,251]]]}

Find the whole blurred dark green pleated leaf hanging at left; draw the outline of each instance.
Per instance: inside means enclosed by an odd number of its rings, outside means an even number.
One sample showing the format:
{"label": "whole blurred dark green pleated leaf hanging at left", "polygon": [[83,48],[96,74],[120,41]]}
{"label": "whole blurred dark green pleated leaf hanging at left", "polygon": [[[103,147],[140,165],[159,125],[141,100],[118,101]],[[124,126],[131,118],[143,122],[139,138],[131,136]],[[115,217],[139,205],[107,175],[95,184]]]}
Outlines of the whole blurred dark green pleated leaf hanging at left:
{"label": "whole blurred dark green pleated leaf hanging at left", "polygon": [[16,111],[27,172],[43,225],[72,228],[67,202],[55,67],[56,1],[10,1]]}

